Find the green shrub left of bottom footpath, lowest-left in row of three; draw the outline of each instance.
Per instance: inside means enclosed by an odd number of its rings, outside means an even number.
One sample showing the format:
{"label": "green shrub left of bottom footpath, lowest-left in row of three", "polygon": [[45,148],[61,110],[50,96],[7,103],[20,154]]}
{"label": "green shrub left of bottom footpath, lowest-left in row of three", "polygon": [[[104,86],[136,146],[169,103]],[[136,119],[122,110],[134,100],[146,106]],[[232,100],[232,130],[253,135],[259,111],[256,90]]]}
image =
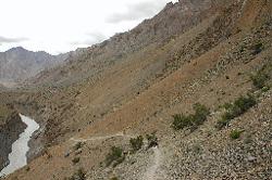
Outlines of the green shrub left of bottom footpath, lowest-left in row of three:
{"label": "green shrub left of bottom footpath, lowest-left in row of three", "polygon": [[121,147],[112,146],[111,152],[106,157],[106,166],[110,166],[112,163],[113,166],[118,166],[125,159],[125,155]]}

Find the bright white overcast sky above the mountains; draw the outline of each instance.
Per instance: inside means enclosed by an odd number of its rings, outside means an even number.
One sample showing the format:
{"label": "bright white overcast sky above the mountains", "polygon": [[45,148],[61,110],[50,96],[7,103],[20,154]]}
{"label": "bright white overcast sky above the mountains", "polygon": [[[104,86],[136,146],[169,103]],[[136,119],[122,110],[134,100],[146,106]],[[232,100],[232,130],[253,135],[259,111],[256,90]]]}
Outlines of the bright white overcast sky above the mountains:
{"label": "bright white overcast sky above the mountains", "polygon": [[170,1],[0,0],[0,51],[23,47],[58,54],[90,47],[132,29]]}

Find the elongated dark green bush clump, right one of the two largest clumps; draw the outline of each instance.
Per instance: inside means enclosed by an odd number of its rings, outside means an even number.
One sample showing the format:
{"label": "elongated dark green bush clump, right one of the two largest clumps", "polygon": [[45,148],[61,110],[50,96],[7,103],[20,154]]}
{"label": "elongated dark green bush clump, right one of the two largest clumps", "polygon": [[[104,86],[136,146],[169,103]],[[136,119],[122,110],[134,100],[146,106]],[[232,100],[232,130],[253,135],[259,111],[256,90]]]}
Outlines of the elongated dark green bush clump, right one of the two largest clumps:
{"label": "elongated dark green bush clump, right one of the two largest clumps", "polygon": [[252,95],[240,97],[234,101],[234,103],[228,104],[225,106],[226,112],[222,115],[221,119],[217,124],[218,129],[222,129],[223,127],[227,126],[232,119],[235,117],[240,116],[249,108],[255,106],[257,101]]}

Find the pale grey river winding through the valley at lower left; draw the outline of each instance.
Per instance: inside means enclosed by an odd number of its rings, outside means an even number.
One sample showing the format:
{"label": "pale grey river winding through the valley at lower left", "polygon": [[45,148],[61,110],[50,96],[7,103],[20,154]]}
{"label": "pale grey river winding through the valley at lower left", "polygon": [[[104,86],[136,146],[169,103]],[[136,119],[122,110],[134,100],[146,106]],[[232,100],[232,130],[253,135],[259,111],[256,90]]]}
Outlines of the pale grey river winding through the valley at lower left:
{"label": "pale grey river winding through the valley at lower left", "polygon": [[21,114],[20,117],[27,127],[25,131],[20,134],[18,139],[12,144],[12,152],[9,154],[10,164],[1,170],[0,177],[10,175],[27,165],[26,154],[29,151],[28,142],[33,132],[39,129],[39,125],[32,118]]}

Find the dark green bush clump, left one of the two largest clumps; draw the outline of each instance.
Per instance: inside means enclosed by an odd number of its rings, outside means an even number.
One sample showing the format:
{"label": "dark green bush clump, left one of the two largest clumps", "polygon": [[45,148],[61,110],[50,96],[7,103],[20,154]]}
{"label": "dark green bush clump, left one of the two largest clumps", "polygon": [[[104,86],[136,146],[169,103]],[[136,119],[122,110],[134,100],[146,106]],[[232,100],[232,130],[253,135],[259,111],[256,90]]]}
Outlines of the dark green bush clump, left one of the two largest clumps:
{"label": "dark green bush clump, left one of the two largest clumps", "polygon": [[176,114],[173,116],[174,121],[172,127],[175,130],[190,128],[191,130],[196,129],[198,126],[202,125],[207,119],[207,116],[210,114],[209,108],[202,104],[194,104],[195,114],[191,115],[181,115]]}

